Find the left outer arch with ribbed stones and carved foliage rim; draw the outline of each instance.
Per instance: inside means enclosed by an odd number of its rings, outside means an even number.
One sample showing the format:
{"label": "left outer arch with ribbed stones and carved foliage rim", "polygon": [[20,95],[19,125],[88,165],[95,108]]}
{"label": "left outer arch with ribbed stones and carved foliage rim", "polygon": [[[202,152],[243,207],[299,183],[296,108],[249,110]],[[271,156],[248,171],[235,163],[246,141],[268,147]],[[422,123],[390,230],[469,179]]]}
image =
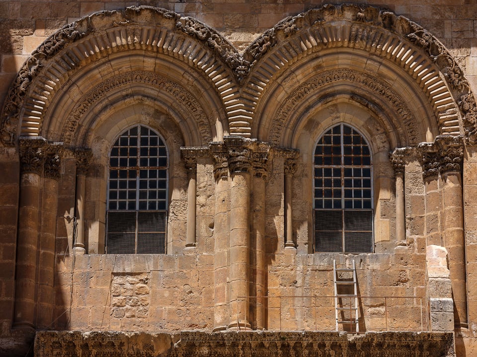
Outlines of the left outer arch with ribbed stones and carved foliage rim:
{"label": "left outer arch with ribbed stones and carved foliage rim", "polygon": [[[120,69],[128,69],[128,55],[135,51],[182,63],[183,73],[188,69],[199,73],[203,80],[197,99],[203,108],[212,108],[214,120],[224,130],[219,136],[229,134],[225,108],[231,98],[237,97],[237,50],[197,20],[165,9],[133,6],[83,17],[54,33],[32,53],[5,99],[2,143],[13,145],[18,135],[43,135],[45,112],[75,73],[95,61],[121,56]],[[241,132],[232,129],[230,133]]]}

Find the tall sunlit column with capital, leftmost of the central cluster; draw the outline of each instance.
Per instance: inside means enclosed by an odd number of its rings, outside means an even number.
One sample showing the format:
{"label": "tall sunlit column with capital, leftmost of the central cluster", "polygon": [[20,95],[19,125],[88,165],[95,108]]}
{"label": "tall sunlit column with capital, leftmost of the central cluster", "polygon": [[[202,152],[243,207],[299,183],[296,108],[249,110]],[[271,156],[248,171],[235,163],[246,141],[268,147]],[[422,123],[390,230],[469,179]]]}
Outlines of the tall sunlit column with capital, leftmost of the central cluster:
{"label": "tall sunlit column with capital, leftmost of the central cluster", "polygon": [[229,325],[228,266],[229,266],[229,169],[227,153],[222,144],[210,147],[214,158],[215,217],[214,217],[214,331]]}

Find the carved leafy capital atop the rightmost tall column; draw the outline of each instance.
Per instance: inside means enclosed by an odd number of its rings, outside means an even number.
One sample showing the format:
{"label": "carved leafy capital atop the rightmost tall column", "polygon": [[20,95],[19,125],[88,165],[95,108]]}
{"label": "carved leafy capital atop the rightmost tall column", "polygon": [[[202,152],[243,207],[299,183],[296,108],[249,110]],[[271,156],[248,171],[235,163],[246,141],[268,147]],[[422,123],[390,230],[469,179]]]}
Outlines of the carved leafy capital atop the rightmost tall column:
{"label": "carved leafy capital atop the rightmost tall column", "polygon": [[439,135],[435,140],[439,153],[439,172],[462,171],[464,137],[462,135]]}

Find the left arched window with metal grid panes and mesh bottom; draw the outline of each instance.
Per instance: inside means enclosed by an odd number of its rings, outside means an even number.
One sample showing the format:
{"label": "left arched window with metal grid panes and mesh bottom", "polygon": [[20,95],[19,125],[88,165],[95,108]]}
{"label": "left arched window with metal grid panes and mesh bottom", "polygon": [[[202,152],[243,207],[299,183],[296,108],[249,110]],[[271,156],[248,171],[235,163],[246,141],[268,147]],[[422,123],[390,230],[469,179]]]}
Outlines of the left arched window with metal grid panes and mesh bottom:
{"label": "left arched window with metal grid panes and mesh bottom", "polygon": [[109,156],[106,252],[165,253],[167,151],[138,125],[122,133]]}

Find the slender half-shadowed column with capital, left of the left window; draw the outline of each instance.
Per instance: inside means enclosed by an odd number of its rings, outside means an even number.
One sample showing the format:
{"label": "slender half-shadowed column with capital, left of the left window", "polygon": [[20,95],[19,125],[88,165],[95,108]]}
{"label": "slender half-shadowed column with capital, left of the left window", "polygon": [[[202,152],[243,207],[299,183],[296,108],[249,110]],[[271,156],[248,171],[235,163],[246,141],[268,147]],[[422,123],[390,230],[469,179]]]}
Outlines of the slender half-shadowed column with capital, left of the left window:
{"label": "slender half-shadowed column with capital, left of the left window", "polygon": [[76,149],[76,239],[74,243],[75,254],[84,254],[84,201],[86,194],[86,172],[91,163],[92,153],[90,149]]}

